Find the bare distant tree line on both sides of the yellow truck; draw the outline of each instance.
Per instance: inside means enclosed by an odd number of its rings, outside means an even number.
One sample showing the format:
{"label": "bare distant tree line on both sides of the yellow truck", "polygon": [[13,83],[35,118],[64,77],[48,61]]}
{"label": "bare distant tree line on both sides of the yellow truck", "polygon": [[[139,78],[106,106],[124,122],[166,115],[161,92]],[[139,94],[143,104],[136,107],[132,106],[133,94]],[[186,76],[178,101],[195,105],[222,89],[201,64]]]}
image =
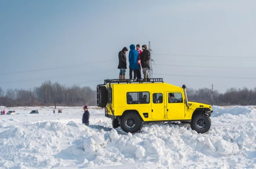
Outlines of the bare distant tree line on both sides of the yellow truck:
{"label": "bare distant tree line on both sides of the yellow truck", "polygon": [[[210,105],[256,105],[256,88],[229,88],[219,93],[210,88],[198,90],[187,88],[188,101],[202,102]],[[39,87],[30,90],[8,89],[0,87],[0,105],[14,106],[81,106],[97,105],[96,91],[90,87],[66,87],[60,83],[45,81]]]}

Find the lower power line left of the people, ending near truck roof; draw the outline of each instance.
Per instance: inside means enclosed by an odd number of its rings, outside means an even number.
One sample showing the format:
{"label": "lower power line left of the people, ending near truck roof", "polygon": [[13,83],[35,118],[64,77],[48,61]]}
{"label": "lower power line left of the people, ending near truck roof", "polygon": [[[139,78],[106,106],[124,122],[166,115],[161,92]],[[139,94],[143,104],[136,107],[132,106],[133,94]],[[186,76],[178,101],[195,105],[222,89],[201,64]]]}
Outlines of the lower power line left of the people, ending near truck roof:
{"label": "lower power line left of the people, ending near truck roof", "polygon": [[60,79],[60,78],[66,78],[66,77],[74,77],[74,76],[82,76],[87,74],[97,74],[103,72],[110,72],[106,70],[116,71],[116,69],[105,69],[105,70],[99,70],[96,71],[90,71],[90,72],[84,72],[80,74],[69,74],[69,75],[62,75],[62,76],[52,76],[52,77],[46,77],[46,78],[38,78],[38,79],[27,79],[27,80],[19,80],[19,81],[7,81],[7,82],[1,82],[0,84],[6,84],[6,83],[19,83],[19,82],[29,82],[29,81],[39,81],[39,80],[50,80],[50,79]]}

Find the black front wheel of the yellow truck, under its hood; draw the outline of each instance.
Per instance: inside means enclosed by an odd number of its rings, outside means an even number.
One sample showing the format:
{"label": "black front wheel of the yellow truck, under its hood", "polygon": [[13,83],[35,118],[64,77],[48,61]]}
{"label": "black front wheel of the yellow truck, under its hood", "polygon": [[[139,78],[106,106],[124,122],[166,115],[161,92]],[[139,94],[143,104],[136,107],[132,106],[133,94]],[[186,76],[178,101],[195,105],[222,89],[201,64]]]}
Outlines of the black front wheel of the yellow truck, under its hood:
{"label": "black front wheel of the yellow truck, under its hood", "polygon": [[197,133],[206,133],[211,127],[211,119],[204,112],[195,114],[191,119],[191,129]]}

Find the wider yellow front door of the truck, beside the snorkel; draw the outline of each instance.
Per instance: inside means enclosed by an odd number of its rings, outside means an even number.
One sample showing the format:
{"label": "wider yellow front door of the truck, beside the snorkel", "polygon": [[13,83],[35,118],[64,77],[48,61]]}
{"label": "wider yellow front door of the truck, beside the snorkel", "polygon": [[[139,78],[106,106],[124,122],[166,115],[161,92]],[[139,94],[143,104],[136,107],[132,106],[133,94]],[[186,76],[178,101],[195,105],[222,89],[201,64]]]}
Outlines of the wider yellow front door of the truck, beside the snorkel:
{"label": "wider yellow front door of the truck, beside the snorkel", "polygon": [[182,92],[167,92],[167,119],[184,119],[185,103]]}

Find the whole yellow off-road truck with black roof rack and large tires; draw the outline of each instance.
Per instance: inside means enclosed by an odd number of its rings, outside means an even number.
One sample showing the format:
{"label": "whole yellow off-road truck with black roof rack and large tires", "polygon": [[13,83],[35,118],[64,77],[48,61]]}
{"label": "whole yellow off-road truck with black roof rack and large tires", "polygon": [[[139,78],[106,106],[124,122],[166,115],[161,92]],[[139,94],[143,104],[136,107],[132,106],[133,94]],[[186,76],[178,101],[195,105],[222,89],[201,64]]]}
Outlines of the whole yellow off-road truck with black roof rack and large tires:
{"label": "whole yellow off-road truck with black roof rack and large tires", "polygon": [[162,78],[147,82],[108,79],[97,86],[97,105],[112,119],[113,128],[135,133],[144,122],[181,121],[192,130],[205,133],[210,129],[210,105],[188,102],[186,86],[164,83]]}

